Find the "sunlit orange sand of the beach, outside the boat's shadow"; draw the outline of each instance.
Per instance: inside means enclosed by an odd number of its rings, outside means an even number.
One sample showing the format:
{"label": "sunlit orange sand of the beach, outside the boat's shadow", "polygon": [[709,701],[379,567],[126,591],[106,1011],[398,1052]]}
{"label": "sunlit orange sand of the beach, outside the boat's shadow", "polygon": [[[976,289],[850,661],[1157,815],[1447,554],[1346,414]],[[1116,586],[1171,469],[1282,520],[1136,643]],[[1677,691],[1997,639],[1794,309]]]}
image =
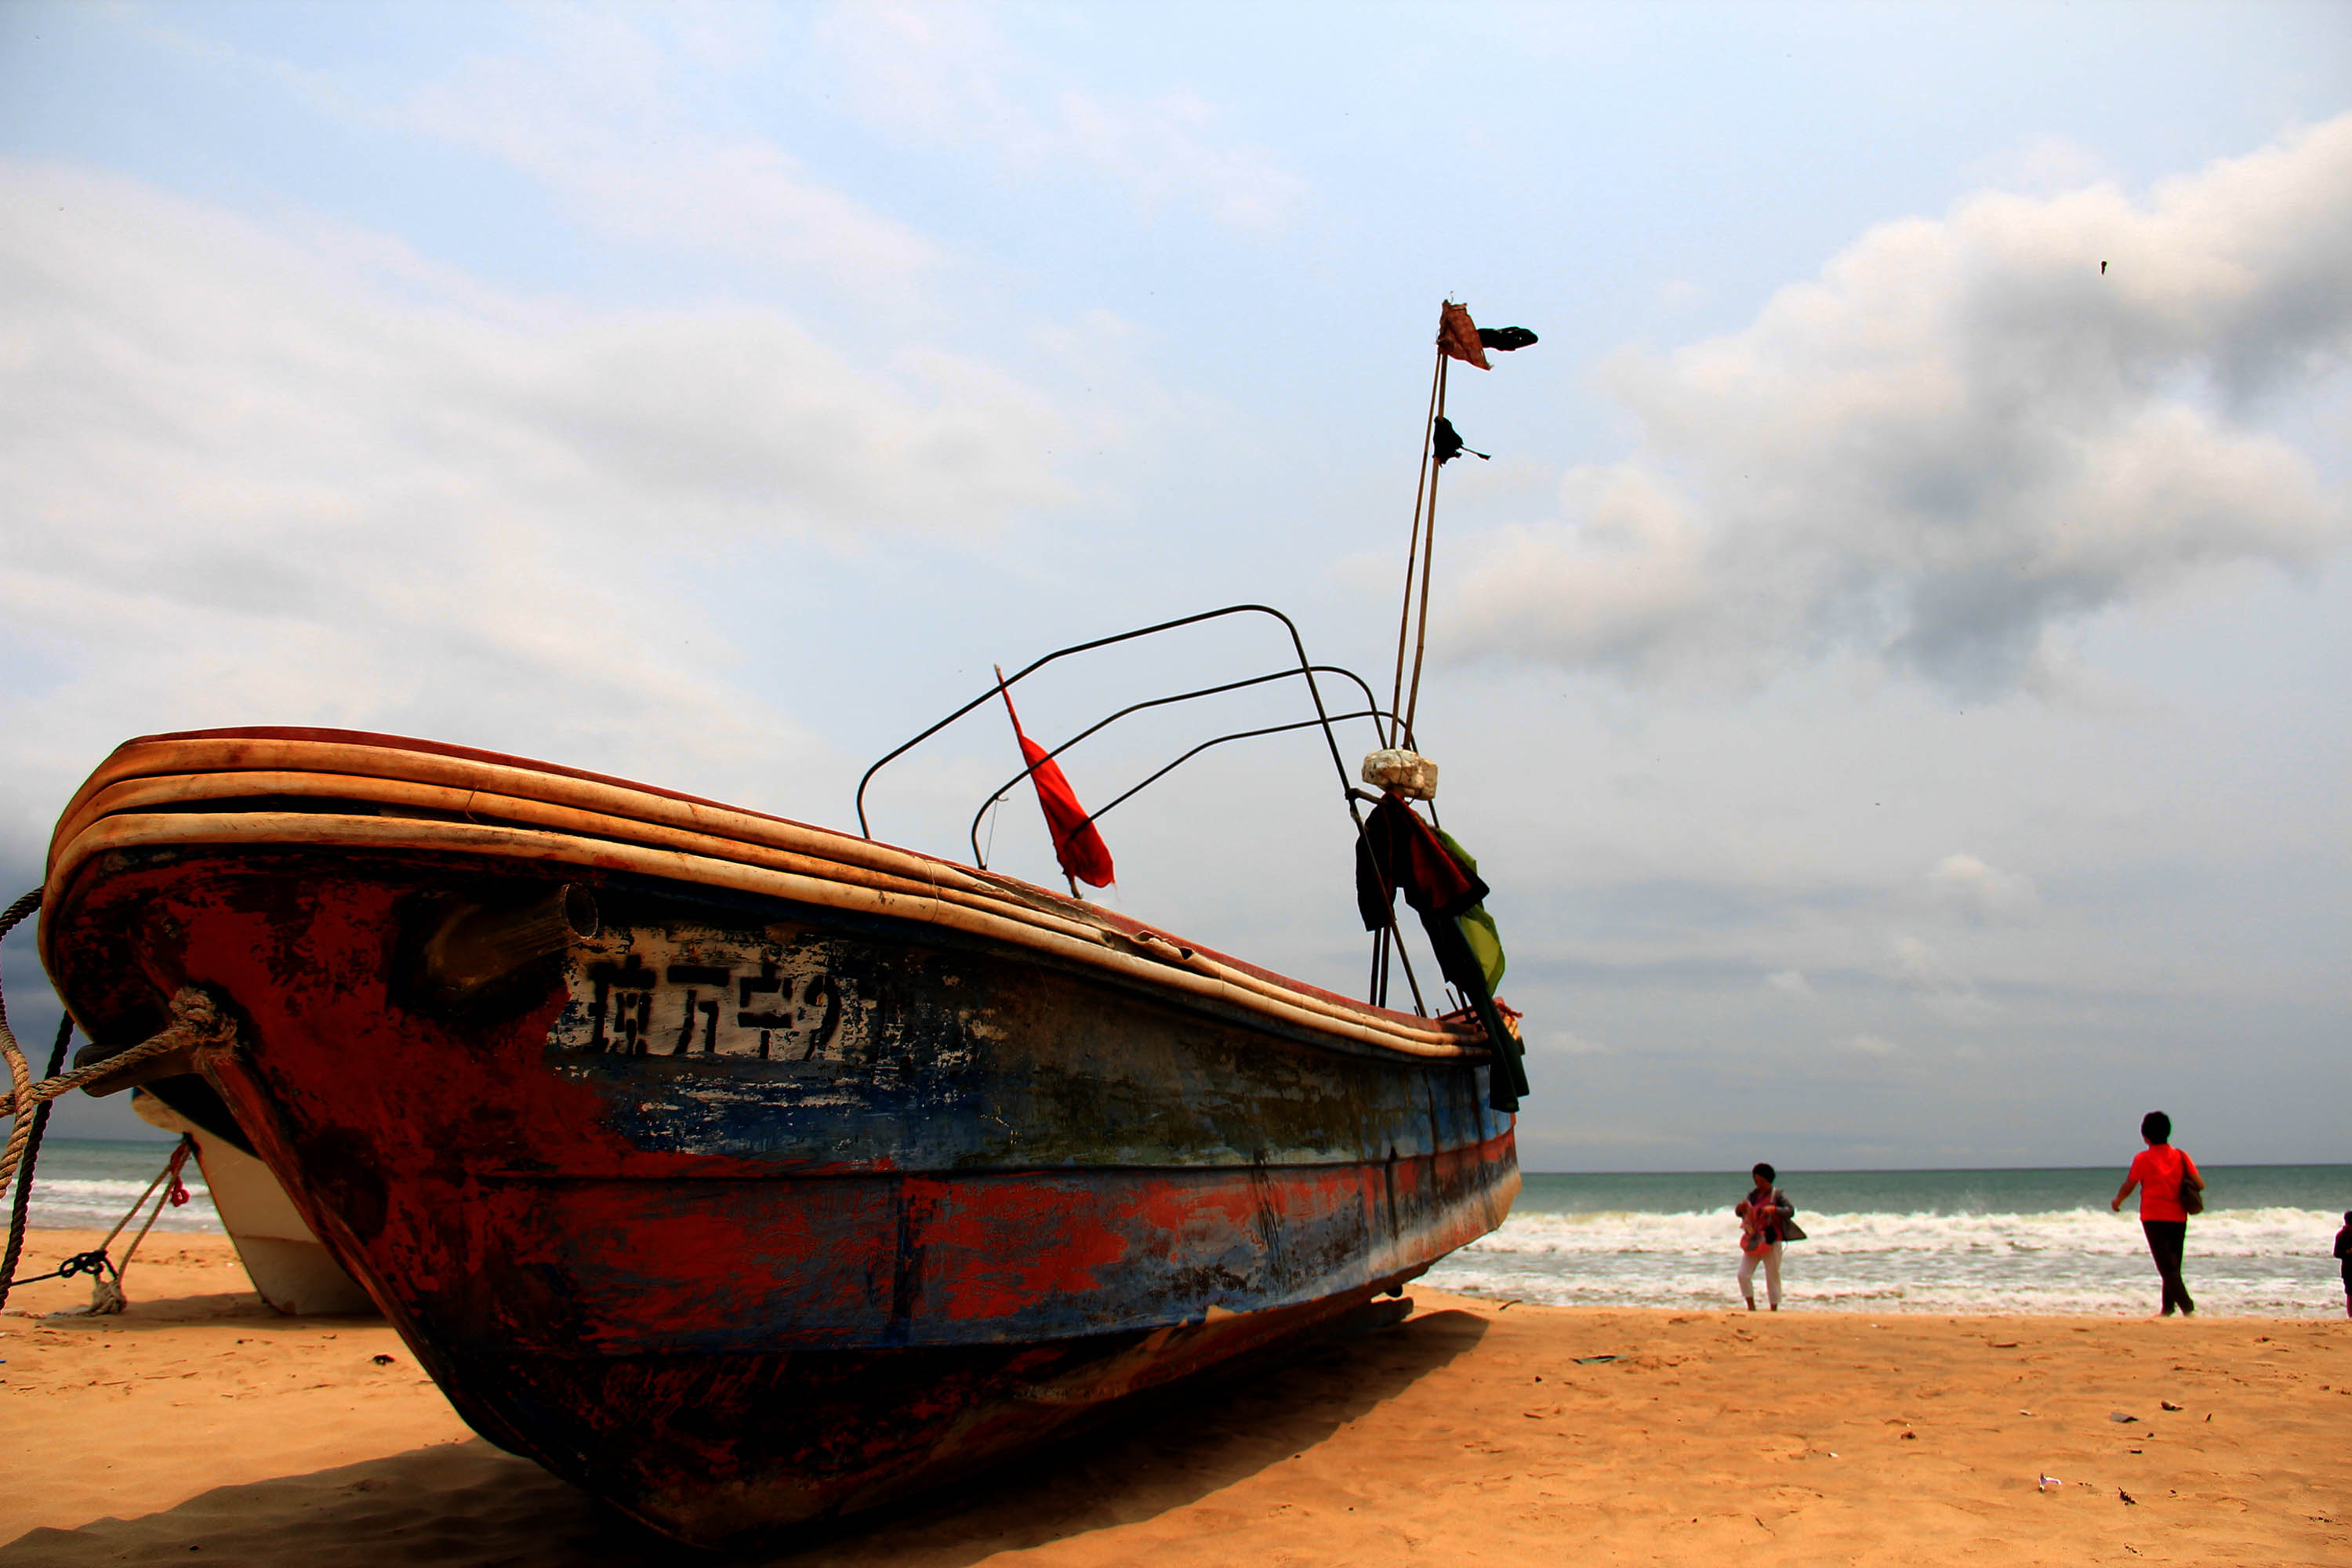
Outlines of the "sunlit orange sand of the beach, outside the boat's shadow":
{"label": "sunlit orange sand of the beach, outside the boat's shadow", "polygon": [[[151,1237],[127,1284],[115,1319],[38,1316],[85,1281],[0,1319],[0,1566],[713,1561],[473,1439],[381,1321],[270,1314],[226,1237]],[[2345,1321],[1414,1295],[776,1561],[2352,1561]]]}

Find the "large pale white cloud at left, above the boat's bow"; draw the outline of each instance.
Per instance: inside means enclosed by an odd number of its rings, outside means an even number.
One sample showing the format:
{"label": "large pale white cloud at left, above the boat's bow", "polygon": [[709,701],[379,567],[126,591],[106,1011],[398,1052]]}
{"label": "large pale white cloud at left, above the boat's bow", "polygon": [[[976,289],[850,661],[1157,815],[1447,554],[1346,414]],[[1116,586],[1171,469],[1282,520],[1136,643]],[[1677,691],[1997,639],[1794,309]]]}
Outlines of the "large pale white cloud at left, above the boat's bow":
{"label": "large pale white cloud at left, above the boat's bow", "polygon": [[821,748],[731,682],[724,628],[790,611],[790,550],[1068,496],[1054,409],[988,367],[386,259],[0,162],[0,719],[40,811],[127,733],[235,722],[774,780]]}

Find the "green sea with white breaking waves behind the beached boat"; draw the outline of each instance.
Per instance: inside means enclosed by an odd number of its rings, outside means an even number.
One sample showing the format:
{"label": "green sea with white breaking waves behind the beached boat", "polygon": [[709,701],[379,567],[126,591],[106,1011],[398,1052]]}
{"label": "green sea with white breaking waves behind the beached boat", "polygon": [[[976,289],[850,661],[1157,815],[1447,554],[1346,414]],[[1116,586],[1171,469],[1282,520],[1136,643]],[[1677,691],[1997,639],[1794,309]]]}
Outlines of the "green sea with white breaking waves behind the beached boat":
{"label": "green sea with white breaking waves behind the beached boat", "polygon": [[[111,1227],[169,1143],[49,1138],[35,1225]],[[2190,1220],[2197,1307],[2340,1316],[2328,1246],[2352,1166],[2204,1166]],[[2122,1166],[2084,1171],[1788,1171],[1809,1239],[1783,1262],[1785,1309],[2145,1314],[2157,1305],[2133,1206],[2107,1213]],[[221,1229],[188,1164],[183,1208],[158,1229]],[[1736,1307],[1736,1173],[1529,1175],[1503,1229],[1430,1269],[1430,1286],[1562,1307]],[[1764,1281],[1757,1279],[1762,1293]]]}

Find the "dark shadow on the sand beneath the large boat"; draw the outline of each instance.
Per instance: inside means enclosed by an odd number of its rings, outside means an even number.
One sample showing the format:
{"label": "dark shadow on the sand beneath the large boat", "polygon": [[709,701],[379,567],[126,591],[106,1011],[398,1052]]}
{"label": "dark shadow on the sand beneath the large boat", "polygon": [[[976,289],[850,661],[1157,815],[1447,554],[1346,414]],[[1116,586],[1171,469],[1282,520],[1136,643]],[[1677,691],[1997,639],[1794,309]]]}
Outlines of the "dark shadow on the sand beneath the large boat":
{"label": "dark shadow on the sand beneath the large boat", "polygon": [[677,1547],[473,1439],[249,1486],[221,1486],[141,1519],[33,1530],[0,1568],[80,1563],[793,1563],[957,1568],[1131,1526],[1289,1462],[1470,1352],[1486,1321],[1425,1312],[1348,1340],[1251,1361],[1112,1410],[1082,1436],[863,1514],[776,1552]]}

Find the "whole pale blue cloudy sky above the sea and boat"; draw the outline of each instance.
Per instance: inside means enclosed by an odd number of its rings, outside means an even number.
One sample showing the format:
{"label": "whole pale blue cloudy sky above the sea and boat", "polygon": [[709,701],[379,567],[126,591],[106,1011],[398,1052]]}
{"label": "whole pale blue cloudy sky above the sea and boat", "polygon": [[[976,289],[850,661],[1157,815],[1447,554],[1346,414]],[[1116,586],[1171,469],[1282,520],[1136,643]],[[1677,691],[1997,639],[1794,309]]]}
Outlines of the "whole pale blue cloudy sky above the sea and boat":
{"label": "whole pale blue cloudy sky above the sea and boat", "polygon": [[[854,830],[1087,637],[1261,602],[1385,689],[1444,299],[1541,336],[1449,376],[1418,722],[1529,1168],[2122,1164],[2152,1107],[2352,1161],[2347,5],[14,0],[0,896],[136,733]],[[1018,766],[983,712],[875,832],[969,858]],[[1312,731],[1103,835],[1105,903],[1362,992]]]}

